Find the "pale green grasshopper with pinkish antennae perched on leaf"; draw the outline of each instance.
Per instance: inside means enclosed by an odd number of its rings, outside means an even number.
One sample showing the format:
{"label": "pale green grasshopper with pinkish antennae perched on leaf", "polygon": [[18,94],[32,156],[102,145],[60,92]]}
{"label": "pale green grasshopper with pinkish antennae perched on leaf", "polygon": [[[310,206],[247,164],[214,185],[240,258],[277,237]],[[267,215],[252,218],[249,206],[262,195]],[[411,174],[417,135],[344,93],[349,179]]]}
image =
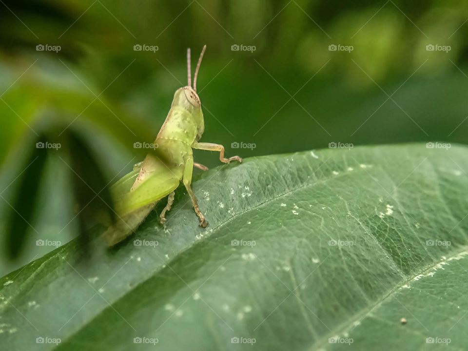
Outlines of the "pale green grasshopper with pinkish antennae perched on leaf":
{"label": "pale green grasshopper with pinkish antennae perched on leaf", "polygon": [[171,209],[174,191],[180,181],[183,182],[192,200],[200,227],[205,228],[208,225],[191,188],[194,167],[203,171],[208,168],[194,162],[192,149],[217,151],[219,159],[224,163],[233,160],[242,162],[239,156],[224,157],[223,145],[198,142],[205,130],[205,121],[200,98],[196,94],[196,78],[205,49],[206,45],[203,46],[196,65],[193,88],[190,49],[187,49],[188,84],[177,89],[174,94],[171,109],[154,142],[160,155],[165,156],[166,162],[155,155],[148,154],[144,161],[134,166],[132,172],[123,176],[111,187],[118,219],[104,233],[109,246],[132,234],[154,209],[156,203],[169,195],[167,205],[159,216],[160,222],[164,224],[166,212]]}

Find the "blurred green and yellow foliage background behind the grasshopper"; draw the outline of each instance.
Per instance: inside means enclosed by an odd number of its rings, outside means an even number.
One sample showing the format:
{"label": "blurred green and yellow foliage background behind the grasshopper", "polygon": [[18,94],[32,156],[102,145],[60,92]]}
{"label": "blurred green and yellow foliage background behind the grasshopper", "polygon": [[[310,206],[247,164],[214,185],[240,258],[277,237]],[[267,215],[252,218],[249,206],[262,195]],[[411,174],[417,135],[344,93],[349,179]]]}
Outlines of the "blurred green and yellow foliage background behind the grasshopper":
{"label": "blurred green and yellow foliage background behind the grasshopper", "polygon": [[[331,142],[468,141],[463,2],[3,0],[0,8],[4,232],[36,135],[83,136],[108,181],[143,158],[133,143],[156,137],[186,84],[187,47],[196,56],[208,46],[198,79],[202,140],[224,144],[228,156]],[[158,50],[134,50],[143,44]],[[235,44],[255,50],[232,51]],[[255,148],[232,149],[235,142]],[[195,160],[218,164],[210,153]],[[75,235],[72,163],[48,152],[31,237],[64,243]],[[2,262],[0,273],[51,249],[31,239],[21,262]]]}

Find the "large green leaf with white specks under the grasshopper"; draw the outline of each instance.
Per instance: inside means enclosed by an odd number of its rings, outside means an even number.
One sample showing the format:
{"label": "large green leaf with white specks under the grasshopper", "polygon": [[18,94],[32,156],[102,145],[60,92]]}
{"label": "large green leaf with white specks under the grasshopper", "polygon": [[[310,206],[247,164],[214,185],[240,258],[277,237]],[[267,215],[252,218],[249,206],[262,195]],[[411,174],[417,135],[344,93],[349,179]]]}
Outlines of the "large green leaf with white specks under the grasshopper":
{"label": "large green leaf with white specks under the grasshopper", "polygon": [[[447,349],[427,343],[433,338],[462,350],[467,171],[465,147],[426,145],[219,167],[193,184],[206,230],[179,190],[164,227],[154,213],[115,249],[97,237],[87,267],[75,260],[72,241],[3,277],[0,343],[5,350]],[[136,344],[138,337],[158,343]]]}

